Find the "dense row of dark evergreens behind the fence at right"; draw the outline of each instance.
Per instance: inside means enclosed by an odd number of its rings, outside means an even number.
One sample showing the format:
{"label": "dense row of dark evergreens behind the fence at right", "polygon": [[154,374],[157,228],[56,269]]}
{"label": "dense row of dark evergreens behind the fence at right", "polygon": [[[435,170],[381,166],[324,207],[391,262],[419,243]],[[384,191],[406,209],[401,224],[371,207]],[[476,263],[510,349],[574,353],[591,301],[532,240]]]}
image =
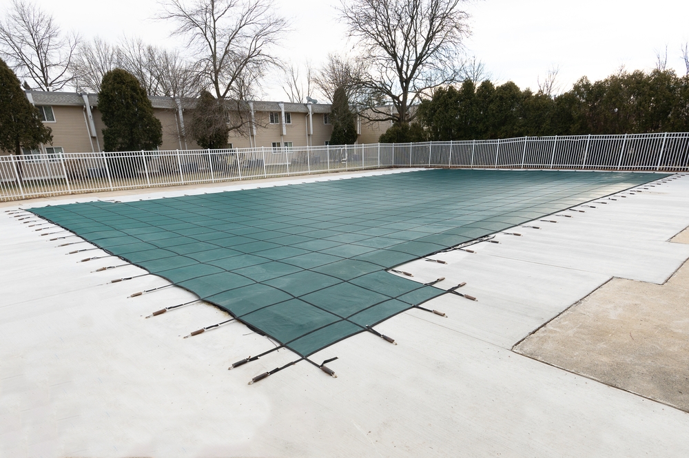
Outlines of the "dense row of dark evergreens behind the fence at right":
{"label": "dense row of dark evergreens behind the fence at right", "polygon": [[435,91],[411,126],[395,125],[381,142],[473,140],[520,136],[689,132],[689,76],[672,71],[621,72],[550,96],[512,83]]}

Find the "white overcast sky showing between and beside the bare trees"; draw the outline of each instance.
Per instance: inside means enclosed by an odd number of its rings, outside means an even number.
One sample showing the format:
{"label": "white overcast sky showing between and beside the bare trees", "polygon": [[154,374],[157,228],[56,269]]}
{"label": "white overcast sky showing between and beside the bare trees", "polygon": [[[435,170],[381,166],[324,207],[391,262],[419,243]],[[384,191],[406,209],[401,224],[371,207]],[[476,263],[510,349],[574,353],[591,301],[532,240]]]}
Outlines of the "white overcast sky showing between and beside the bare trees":
{"label": "white overcast sky showing between and beside the bare trees", "polygon": [[[3,2],[7,5],[7,2]],[[295,63],[309,59],[318,67],[329,52],[346,52],[352,43],[337,19],[339,0],[272,0],[289,18],[293,31],[278,54]],[[117,41],[124,35],[152,44],[171,46],[172,25],[152,19],[156,0],[38,0],[64,30],[83,37],[99,35]],[[685,74],[680,46],[689,41],[689,1],[612,0],[471,0],[471,37],[466,52],[486,64],[493,79],[537,88],[537,79],[559,67],[558,81],[568,90],[581,76],[603,79],[621,65],[628,70],[651,70],[656,54],[668,46],[668,67]],[[278,75],[265,96],[287,97]]]}

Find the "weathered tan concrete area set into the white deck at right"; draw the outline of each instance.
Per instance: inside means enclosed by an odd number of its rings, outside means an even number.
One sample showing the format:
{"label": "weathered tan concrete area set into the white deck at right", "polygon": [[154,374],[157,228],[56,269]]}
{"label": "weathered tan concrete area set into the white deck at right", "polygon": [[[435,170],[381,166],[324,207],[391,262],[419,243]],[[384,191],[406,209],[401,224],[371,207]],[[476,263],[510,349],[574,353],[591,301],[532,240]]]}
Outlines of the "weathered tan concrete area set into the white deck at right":
{"label": "weathered tan concrete area set into the white deck at right", "polygon": [[615,278],[514,350],[689,412],[688,304],[689,262],[664,285]]}

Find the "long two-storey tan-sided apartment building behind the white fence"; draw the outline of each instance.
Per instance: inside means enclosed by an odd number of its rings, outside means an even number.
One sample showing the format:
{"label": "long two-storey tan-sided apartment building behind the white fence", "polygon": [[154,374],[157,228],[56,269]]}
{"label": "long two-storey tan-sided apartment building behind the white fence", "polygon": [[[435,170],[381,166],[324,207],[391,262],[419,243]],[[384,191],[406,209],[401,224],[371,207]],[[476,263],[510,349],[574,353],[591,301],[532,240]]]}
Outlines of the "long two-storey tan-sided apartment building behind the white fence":
{"label": "long two-storey tan-sided apartment building behind the white fence", "polygon": [[[26,91],[26,96],[39,108],[43,123],[52,129],[52,145],[42,145],[42,154],[103,151],[105,125],[98,110],[97,94]],[[155,116],[163,125],[163,144],[159,149],[198,149],[194,140],[185,135],[185,121],[191,120],[196,100],[149,98]],[[228,141],[232,148],[275,149],[329,144],[332,134],[329,104],[254,101],[248,106],[251,121],[243,129],[230,132]],[[358,120],[358,143],[377,143],[389,126],[389,121]],[[25,154],[30,153],[25,151]]]}

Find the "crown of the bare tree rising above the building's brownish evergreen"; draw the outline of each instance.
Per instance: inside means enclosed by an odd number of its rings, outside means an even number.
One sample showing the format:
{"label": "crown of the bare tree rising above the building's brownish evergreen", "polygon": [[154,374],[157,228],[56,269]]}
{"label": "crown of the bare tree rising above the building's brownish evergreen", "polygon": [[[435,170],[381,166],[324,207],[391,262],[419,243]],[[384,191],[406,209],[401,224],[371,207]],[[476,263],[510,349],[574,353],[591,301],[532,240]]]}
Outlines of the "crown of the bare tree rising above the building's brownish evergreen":
{"label": "crown of the bare tree rising above the building's brownish evergreen", "polygon": [[269,0],[167,0],[158,18],[177,23],[189,39],[198,67],[218,99],[245,100],[269,67],[287,21],[272,14]]}

